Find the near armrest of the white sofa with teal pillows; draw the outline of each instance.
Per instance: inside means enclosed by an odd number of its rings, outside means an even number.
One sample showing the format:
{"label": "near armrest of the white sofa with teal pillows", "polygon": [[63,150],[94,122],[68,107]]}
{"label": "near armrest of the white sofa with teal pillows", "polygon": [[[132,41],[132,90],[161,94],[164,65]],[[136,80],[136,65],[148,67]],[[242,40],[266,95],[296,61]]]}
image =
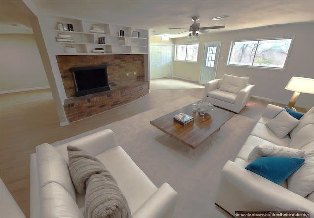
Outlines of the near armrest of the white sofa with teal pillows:
{"label": "near armrest of the white sofa with teal pillows", "polygon": [[303,210],[314,216],[314,203],[245,168],[227,161],[222,169],[215,203],[235,211]]}

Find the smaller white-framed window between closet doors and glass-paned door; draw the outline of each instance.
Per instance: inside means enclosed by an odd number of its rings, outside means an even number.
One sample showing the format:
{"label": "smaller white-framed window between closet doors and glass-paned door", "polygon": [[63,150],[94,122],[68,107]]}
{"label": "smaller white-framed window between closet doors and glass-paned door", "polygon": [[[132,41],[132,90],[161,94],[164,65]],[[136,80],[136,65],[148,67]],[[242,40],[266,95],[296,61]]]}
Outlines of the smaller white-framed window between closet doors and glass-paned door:
{"label": "smaller white-framed window between closet doors and glass-paned door", "polygon": [[198,44],[176,45],[176,61],[197,61]]}

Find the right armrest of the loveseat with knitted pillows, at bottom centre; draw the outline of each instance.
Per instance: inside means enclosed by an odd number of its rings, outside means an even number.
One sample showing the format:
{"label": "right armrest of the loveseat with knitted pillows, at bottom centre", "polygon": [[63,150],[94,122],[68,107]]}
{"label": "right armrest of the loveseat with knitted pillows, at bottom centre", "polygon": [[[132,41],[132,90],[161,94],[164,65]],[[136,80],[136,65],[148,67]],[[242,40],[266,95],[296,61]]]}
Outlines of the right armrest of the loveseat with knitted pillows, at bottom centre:
{"label": "right armrest of the loveseat with knitted pillows, at bottom centre", "polygon": [[168,183],[163,183],[132,218],[171,218],[177,196],[177,192]]}

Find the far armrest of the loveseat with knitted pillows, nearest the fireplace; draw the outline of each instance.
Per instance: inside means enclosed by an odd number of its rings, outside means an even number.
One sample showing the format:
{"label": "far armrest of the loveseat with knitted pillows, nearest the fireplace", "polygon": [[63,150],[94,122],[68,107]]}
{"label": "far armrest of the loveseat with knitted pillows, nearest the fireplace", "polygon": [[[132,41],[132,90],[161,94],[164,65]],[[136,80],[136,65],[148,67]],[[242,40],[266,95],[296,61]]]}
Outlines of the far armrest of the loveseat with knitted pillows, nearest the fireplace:
{"label": "far armrest of the loveseat with knitted pillows, nearest the fireplace", "polygon": [[80,134],[59,142],[51,144],[59,151],[62,157],[68,162],[67,146],[76,146],[86,150],[93,156],[101,154],[115,146],[118,146],[117,140],[111,129],[101,130],[95,133]]}

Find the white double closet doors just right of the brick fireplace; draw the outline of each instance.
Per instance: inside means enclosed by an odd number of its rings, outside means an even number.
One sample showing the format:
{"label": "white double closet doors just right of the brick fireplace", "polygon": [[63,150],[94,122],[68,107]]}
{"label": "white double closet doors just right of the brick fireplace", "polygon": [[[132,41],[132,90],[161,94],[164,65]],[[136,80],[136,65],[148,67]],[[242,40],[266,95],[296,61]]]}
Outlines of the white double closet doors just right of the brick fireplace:
{"label": "white double closet doors just right of the brick fireplace", "polygon": [[172,76],[172,45],[150,45],[150,79]]}

